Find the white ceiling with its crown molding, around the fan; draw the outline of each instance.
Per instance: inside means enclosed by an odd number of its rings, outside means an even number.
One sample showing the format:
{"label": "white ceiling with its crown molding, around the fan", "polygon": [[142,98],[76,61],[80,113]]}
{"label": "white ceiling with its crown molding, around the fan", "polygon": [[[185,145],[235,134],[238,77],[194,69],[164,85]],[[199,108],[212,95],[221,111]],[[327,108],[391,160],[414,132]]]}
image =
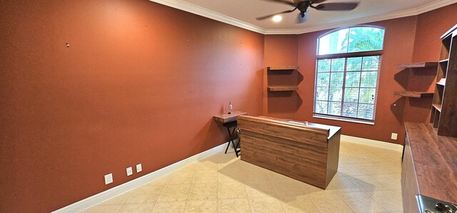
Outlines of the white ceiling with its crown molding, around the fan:
{"label": "white ceiling with its crown molding, around the fan", "polygon": [[[325,3],[358,1],[353,11],[316,11],[308,9],[308,21],[296,24],[298,11],[283,14],[283,21],[271,19],[258,21],[255,18],[293,9],[293,7],[264,0],[150,0],[159,4],[189,11],[193,14],[222,21],[264,34],[296,34],[327,28],[364,24],[372,21],[413,16],[442,6],[457,3],[457,0],[327,0]],[[292,1],[292,0],[290,0]]]}

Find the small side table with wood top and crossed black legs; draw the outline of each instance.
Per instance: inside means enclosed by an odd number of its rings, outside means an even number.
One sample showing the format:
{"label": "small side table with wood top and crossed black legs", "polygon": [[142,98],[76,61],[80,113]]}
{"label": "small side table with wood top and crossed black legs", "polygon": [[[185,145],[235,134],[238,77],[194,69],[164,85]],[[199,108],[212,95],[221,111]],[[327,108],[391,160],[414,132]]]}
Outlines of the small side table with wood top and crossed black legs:
{"label": "small side table with wood top and crossed black legs", "polygon": [[[244,113],[241,111],[232,111],[230,114],[221,114],[221,115],[214,115],[214,120],[216,120],[219,123],[222,123],[224,127],[227,128],[227,131],[229,132],[229,143],[227,144],[226,147],[226,154],[227,150],[229,150],[230,143],[233,145],[233,150],[235,150],[235,155],[238,157],[238,152],[241,152],[241,150],[237,150],[240,142],[238,141],[238,144],[235,145],[235,142],[233,140],[236,140],[236,129],[237,129],[237,123],[236,123],[236,118],[238,118],[239,115],[247,115],[248,113]],[[233,130],[230,130],[233,128]]]}

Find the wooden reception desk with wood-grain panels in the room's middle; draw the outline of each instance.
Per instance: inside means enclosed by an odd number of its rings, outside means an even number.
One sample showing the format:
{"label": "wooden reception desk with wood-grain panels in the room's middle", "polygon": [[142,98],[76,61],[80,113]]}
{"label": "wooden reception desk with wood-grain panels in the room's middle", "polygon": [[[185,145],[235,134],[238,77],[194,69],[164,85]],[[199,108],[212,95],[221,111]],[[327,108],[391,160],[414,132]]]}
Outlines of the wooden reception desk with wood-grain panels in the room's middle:
{"label": "wooden reception desk with wood-grain panels in the room's middle", "polygon": [[338,170],[341,128],[238,116],[241,160],[326,189]]}

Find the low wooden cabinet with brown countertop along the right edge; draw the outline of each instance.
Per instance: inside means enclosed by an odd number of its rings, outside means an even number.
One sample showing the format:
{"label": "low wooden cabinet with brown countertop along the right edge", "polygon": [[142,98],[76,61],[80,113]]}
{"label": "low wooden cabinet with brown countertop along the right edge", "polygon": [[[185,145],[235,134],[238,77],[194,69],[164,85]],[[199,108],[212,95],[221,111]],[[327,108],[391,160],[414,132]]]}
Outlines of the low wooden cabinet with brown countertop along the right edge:
{"label": "low wooden cabinet with brown countertop along the right edge", "polygon": [[[436,135],[436,130],[430,124],[406,122],[405,127],[403,195],[411,192],[408,195],[411,198],[411,195],[420,193],[457,203],[457,138]],[[403,176],[407,173],[411,175],[405,179]],[[416,184],[411,184],[414,181]]]}

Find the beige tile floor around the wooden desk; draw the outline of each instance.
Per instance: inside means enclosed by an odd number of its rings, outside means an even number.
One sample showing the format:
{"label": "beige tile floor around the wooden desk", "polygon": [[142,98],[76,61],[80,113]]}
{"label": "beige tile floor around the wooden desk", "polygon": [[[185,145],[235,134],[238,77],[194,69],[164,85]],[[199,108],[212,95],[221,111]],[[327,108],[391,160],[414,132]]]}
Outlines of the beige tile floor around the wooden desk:
{"label": "beige tile floor around the wooden desk", "polygon": [[401,152],[341,142],[326,190],[224,152],[83,212],[403,212]]}

